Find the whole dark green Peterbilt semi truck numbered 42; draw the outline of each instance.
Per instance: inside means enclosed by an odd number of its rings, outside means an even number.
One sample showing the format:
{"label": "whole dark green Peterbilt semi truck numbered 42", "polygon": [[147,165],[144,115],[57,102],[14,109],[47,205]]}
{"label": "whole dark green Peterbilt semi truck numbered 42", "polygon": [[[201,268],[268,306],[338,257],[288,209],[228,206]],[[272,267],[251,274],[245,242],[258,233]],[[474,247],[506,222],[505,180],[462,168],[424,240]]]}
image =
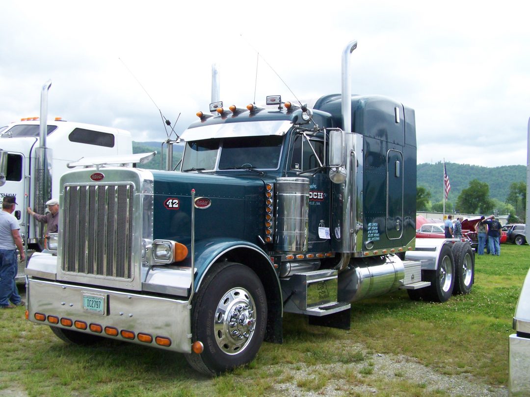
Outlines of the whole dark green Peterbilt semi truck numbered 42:
{"label": "whole dark green Peterbilt semi truck numbered 42", "polygon": [[[31,260],[30,321],[183,353],[214,374],[281,342],[284,312],[350,327],[351,303],[405,288],[445,301],[473,284],[471,247],[415,240],[414,111],[342,93],[310,109],[210,106],[179,169],[61,178],[57,257]],[[85,164],[86,166],[86,164]]]}

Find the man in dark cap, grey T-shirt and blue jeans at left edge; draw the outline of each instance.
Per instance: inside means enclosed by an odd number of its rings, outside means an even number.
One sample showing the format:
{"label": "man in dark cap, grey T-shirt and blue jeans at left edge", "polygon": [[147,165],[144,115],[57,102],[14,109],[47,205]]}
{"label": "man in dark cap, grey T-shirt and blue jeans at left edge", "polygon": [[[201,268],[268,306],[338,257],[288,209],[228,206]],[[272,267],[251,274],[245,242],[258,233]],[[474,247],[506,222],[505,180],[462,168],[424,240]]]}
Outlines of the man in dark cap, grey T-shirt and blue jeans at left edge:
{"label": "man in dark cap, grey T-shirt and blue jeans at left edge", "polygon": [[[15,306],[25,304],[15,282],[19,267],[17,248],[20,259],[25,259],[19,221],[13,216],[15,205],[15,196],[4,196],[0,211],[0,309],[13,309]],[[15,306],[11,305],[10,301]]]}

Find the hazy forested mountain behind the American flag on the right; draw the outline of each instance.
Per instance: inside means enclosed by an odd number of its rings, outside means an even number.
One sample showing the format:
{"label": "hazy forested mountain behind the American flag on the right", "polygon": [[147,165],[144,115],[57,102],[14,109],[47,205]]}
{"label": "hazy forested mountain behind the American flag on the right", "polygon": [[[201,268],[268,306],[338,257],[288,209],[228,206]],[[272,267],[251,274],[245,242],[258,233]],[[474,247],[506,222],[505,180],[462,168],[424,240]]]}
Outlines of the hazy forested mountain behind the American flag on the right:
{"label": "hazy forested mountain behind the American flag on the right", "polygon": [[[481,167],[469,164],[445,163],[447,176],[451,183],[451,192],[448,200],[456,203],[458,195],[463,189],[469,187],[472,179],[478,179],[490,186],[490,198],[497,198],[504,202],[508,195],[510,184],[513,182],[526,182],[526,166],[501,166]],[[443,200],[444,164],[418,164],[417,185],[425,187],[431,192],[431,202]]]}

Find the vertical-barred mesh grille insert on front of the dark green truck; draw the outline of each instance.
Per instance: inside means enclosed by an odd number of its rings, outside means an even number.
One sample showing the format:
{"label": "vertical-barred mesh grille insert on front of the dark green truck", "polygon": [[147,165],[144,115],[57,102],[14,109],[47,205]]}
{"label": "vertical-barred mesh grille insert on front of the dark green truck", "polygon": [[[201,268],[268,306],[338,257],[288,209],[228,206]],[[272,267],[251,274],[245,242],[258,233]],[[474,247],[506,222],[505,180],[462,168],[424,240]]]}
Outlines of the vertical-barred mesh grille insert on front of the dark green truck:
{"label": "vertical-barred mesh grille insert on front of the dark green truck", "polygon": [[132,185],[65,186],[63,270],[130,279]]}

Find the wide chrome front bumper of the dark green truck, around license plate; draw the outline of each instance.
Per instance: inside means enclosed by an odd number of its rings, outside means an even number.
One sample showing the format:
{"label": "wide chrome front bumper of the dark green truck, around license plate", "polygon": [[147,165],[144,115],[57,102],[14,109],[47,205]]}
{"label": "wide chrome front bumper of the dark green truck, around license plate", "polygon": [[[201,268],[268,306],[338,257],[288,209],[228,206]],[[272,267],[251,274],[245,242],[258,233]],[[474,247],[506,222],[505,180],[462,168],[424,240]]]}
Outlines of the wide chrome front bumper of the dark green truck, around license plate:
{"label": "wide chrome front bumper of the dark green truck, around license plate", "polygon": [[[86,294],[105,297],[104,315],[83,310],[83,295]],[[150,345],[179,353],[191,353],[190,309],[187,301],[60,284],[34,278],[28,279],[27,300],[28,319],[38,324],[120,339],[144,346]],[[43,315],[44,319],[37,320],[36,314]],[[37,317],[42,318],[39,315]],[[58,323],[54,323],[57,319]],[[76,328],[75,325],[64,326],[61,324],[62,319],[71,320],[74,324],[76,321],[85,323],[86,330]],[[90,324],[101,326],[103,331],[91,331],[91,328],[98,327],[90,327]],[[105,327],[117,329],[118,335],[107,335]],[[134,332],[134,339],[123,338],[122,330]],[[138,333],[151,335],[152,341],[138,340]],[[168,347],[157,345],[156,337],[169,338],[171,345]]]}

